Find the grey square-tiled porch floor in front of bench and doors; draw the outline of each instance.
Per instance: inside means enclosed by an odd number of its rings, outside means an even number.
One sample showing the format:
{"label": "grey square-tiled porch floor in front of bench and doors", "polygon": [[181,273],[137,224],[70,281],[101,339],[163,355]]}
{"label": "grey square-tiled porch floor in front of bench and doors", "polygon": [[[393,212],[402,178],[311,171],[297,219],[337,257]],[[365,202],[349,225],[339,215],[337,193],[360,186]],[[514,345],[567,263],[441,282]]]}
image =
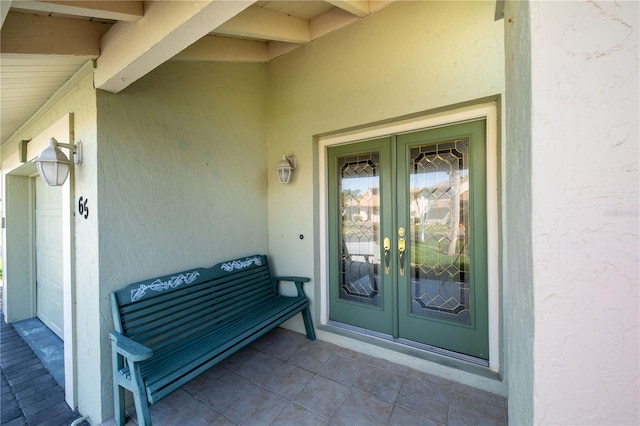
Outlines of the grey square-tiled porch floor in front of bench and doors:
{"label": "grey square-tiled porch floor in front of bench and doors", "polygon": [[506,425],[507,404],[278,328],[153,405],[151,418],[154,425]]}

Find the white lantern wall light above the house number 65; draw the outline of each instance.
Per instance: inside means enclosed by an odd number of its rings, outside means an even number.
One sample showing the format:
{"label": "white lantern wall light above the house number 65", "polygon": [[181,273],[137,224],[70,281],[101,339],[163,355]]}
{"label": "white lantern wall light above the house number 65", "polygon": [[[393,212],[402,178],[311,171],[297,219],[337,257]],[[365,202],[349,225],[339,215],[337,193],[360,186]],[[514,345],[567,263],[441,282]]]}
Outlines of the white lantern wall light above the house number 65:
{"label": "white lantern wall light above the house number 65", "polygon": [[[67,148],[73,152],[73,161],[60,150]],[[82,164],[82,142],[77,144],[59,143],[55,138],[49,139],[49,146],[36,159],[38,174],[49,186],[62,186],[69,176],[71,165]]]}

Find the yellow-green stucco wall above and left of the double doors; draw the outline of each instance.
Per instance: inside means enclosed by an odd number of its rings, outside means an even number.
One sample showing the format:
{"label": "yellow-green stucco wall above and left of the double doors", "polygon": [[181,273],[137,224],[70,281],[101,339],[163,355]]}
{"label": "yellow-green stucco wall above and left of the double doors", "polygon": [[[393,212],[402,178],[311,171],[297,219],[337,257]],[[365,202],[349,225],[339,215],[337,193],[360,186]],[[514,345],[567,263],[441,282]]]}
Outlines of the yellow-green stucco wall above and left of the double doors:
{"label": "yellow-green stucco wall above and left of the double doors", "polygon": [[324,167],[314,135],[502,93],[503,27],[493,14],[493,2],[392,4],[269,64],[269,164],[283,153],[298,160],[290,184],[269,185],[278,268],[314,275],[314,167]]}

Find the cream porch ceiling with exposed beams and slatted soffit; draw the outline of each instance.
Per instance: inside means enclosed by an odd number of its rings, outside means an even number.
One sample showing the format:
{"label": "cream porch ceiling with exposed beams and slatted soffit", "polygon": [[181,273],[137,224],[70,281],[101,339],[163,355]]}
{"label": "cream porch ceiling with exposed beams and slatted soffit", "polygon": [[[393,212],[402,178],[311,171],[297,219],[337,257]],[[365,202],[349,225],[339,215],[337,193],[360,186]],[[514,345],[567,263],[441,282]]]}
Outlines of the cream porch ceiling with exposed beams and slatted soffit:
{"label": "cream porch ceiling with exposed beams and slatted soffit", "polygon": [[268,62],[391,1],[0,0],[0,144],[87,61],[118,93],[167,60]]}

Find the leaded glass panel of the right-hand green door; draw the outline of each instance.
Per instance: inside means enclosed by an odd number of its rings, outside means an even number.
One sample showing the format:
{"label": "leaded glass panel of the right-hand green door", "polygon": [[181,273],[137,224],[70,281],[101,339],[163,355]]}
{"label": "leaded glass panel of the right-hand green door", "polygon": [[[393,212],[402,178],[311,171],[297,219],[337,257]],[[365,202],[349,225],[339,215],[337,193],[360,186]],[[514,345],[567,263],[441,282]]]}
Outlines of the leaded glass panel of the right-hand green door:
{"label": "leaded glass panel of the right-hand green door", "polygon": [[469,141],[409,151],[411,313],[471,323]]}

